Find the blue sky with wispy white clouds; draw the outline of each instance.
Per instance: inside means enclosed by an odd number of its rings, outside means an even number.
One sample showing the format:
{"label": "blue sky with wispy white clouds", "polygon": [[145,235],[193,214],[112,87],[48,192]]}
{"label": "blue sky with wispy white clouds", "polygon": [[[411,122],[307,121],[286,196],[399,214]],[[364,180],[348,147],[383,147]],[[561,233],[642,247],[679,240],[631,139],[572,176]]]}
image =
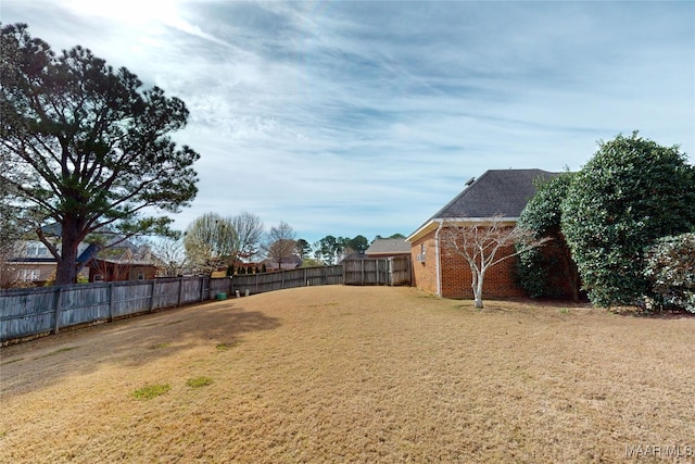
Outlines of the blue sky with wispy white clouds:
{"label": "blue sky with wispy white clouds", "polygon": [[182,99],[214,212],[409,235],[486,170],[577,171],[633,130],[695,164],[695,2],[2,0]]}

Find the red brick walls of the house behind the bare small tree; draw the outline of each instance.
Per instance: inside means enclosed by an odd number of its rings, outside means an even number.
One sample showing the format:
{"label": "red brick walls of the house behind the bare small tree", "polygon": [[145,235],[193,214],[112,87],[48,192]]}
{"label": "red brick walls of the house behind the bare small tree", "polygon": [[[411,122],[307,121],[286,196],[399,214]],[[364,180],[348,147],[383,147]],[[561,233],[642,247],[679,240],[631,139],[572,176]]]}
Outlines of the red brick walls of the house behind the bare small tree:
{"label": "red brick walls of the house behind the bare small tree", "polygon": [[[420,253],[420,244],[426,247],[426,262],[418,263],[417,254]],[[497,251],[497,256],[513,252],[514,246]],[[442,297],[444,298],[473,298],[471,288],[471,274],[468,262],[464,256],[445,247],[440,248]],[[413,243],[414,285],[427,292],[437,293],[437,262],[435,262],[434,231]],[[484,298],[511,298],[523,297],[526,293],[514,281],[515,258],[503,261],[488,268],[483,280]]]}

